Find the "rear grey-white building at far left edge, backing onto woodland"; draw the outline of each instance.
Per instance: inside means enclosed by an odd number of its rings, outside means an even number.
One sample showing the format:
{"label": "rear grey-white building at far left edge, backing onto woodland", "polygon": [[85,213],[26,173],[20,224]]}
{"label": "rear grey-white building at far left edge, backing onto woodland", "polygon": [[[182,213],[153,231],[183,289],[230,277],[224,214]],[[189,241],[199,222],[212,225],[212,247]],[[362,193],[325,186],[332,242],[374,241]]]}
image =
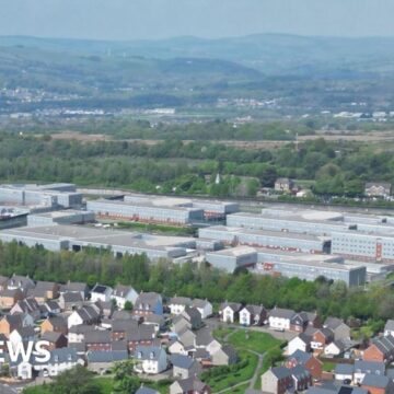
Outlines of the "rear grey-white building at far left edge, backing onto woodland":
{"label": "rear grey-white building at far left edge, backing onto woodland", "polygon": [[82,194],[72,184],[0,185],[0,204],[74,208],[82,205]]}

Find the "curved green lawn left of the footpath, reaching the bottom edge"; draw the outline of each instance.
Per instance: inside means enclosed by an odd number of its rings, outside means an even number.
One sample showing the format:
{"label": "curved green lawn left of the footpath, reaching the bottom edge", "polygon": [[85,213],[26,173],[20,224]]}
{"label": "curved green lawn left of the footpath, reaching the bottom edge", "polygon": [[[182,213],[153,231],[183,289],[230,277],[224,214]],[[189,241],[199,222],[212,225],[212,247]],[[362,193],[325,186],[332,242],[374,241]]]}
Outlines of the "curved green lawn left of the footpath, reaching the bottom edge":
{"label": "curved green lawn left of the footpath, reaching the bottom edge", "polygon": [[[244,368],[235,372],[223,371],[223,373],[220,373],[218,375],[204,379],[204,381],[211,387],[212,393],[219,392],[224,389],[230,389],[237,383],[245,382],[252,379],[258,362],[257,356],[252,355],[251,352],[245,350],[239,351],[239,356],[241,360],[248,361],[248,363]],[[221,367],[215,367],[213,369],[218,370]],[[234,392],[235,391],[231,391],[231,393]]]}

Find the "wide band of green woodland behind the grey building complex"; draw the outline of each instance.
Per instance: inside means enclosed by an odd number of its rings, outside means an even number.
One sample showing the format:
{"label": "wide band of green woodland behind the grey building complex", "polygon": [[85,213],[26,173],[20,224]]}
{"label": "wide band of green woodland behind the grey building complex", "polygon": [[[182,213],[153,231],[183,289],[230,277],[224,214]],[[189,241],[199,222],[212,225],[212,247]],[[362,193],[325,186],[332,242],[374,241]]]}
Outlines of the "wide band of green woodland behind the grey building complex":
{"label": "wide band of green woodland behind the grey building complex", "polygon": [[1,182],[72,182],[150,193],[252,197],[280,176],[309,181],[316,195],[357,197],[366,182],[394,182],[394,158],[390,146],[376,149],[324,139],[263,150],[212,141],[81,143],[0,134]]}

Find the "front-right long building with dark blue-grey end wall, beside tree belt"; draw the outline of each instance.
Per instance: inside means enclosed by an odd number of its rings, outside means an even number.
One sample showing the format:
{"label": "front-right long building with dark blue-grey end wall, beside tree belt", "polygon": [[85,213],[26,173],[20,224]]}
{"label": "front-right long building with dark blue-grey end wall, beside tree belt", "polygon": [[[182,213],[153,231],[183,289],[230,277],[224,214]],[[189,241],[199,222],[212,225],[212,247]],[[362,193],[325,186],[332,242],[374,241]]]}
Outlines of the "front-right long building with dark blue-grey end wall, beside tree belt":
{"label": "front-right long building with dark blue-grey end wall, beside tree belt", "polygon": [[296,277],[310,281],[325,277],[331,280],[341,280],[349,287],[362,286],[367,277],[367,269],[362,266],[354,267],[346,264],[306,262],[303,259],[257,263],[252,271],[259,275]]}

